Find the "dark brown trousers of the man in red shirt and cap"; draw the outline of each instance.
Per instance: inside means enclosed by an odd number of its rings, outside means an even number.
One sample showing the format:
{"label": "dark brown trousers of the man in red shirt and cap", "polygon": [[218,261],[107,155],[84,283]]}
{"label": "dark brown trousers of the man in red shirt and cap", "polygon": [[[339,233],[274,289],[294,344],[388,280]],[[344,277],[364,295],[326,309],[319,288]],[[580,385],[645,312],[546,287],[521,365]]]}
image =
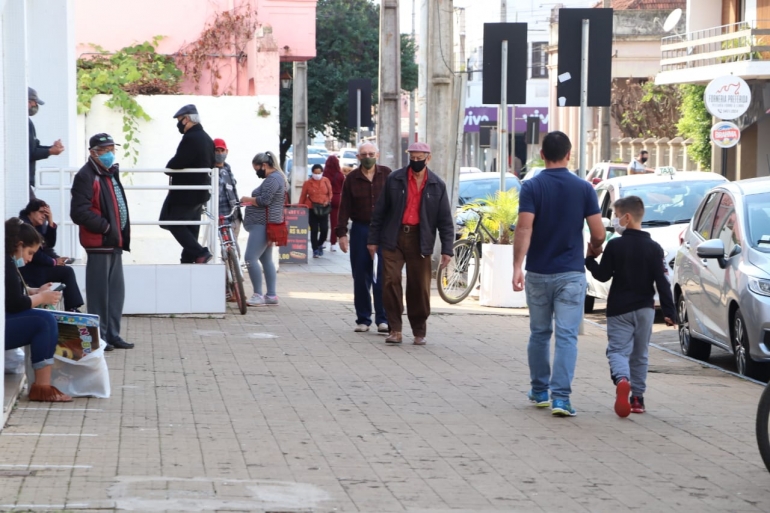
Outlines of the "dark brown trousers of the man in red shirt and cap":
{"label": "dark brown trousers of the man in red shirt and cap", "polygon": [[396,249],[382,250],[385,260],[385,281],[382,302],[388,316],[390,331],[402,331],[401,315],[404,313],[401,272],[406,264],[406,310],[412,334],[424,337],[430,315],[430,256],[420,252],[420,230],[412,227],[409,233],[398,234]]}

